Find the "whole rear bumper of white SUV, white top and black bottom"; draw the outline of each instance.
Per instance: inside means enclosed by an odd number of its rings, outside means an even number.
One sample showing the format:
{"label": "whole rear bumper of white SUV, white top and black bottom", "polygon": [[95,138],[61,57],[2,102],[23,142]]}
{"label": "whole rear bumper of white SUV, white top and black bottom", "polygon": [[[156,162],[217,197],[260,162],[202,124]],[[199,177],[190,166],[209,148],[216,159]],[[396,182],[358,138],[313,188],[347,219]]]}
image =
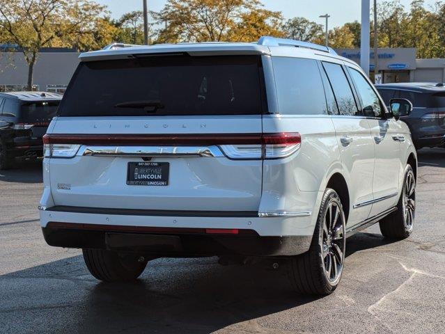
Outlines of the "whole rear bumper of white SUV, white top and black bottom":
{"label": "whole rear bumper of white SUV, white top and black bottom", "polygon": [[[310,213],[305,216],[233,216],[224,212],[191,216],[184,212],[166,216],[157,212],[118,214],[92,209],[60,207],[40,210],[47,244],[66,248],[102,248],[137,251],[157,256],[240,254],[288,256],[309,250],[313,236]],[[103,209],[106,210],[107,209]],[[207,229],[238,230],[239,234],[210,234]]]}

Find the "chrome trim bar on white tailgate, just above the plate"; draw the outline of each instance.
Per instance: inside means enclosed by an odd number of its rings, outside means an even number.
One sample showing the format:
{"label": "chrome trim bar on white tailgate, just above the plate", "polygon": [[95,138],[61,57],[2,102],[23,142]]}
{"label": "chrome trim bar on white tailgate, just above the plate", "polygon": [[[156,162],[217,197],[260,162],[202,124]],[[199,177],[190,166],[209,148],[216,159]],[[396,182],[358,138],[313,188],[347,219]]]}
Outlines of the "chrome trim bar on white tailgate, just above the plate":
{"label": "chrome trim bar on white tailgate, just above the plate", "polygon": [[83,146],[77,155],[91,157],[224,157],[210,146]]}

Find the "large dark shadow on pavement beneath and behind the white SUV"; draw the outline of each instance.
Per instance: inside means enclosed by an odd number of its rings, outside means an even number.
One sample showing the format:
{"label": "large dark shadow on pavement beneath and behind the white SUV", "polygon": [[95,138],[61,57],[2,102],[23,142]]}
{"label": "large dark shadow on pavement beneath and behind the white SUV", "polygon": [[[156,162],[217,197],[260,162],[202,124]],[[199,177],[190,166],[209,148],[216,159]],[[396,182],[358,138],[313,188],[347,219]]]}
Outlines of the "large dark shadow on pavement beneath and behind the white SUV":
{"label": "large dark shadow on pavement beneath and behind the white SUV", "polygon": [[[376,236],[348,239],[348,256],[387,242]],[[80,255],[68,257],[0,276],[0,324],[14,333],[260,331],[258,318],[295,317],[295,308],[318,299],[292,292],[286,263],[271,268],[223,267],[216,257],[158,259],[136,283],[98,283]]]}

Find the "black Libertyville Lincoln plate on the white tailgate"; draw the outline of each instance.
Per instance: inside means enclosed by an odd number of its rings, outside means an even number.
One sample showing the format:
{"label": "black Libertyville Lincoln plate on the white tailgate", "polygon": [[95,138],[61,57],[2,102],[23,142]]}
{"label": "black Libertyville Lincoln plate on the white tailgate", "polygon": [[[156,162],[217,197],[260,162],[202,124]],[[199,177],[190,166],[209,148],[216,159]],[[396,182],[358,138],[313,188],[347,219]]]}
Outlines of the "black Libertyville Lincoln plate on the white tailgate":
{"label": "black Libertyville Lincoln plate on the white tailgate", "polygon": [[169,185],[168,162],[129,162],[127,185],[167,186]]}

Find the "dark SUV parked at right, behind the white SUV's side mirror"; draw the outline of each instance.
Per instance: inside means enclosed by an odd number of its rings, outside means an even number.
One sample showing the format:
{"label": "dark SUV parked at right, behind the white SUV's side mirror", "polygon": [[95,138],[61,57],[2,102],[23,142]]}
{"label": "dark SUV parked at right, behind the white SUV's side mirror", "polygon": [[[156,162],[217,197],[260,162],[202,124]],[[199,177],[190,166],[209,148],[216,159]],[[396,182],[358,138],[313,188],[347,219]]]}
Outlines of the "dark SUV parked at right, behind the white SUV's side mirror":
{"label": "dark SUV parked at right, behind the white SUV's side mirror", "polygon": [[389,100],[409,100],[413,109],[401,116],[411,130],[416,149],[445,147],[445,86],[442,83],[409,82],[375,85],[389,106]]}

